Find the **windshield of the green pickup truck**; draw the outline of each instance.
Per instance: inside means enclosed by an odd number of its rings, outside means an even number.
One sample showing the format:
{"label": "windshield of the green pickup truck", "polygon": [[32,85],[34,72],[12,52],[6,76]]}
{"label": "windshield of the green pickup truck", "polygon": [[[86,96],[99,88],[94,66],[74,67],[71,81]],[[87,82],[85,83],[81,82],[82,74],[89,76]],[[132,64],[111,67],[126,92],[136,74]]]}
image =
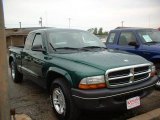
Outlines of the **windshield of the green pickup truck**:
{"label": "windshield of the green pickup truck", "polygon": [[54,49],[84,48],[89,46],[105,47],[98,37],[86,31],[50,31],[48,38]]}

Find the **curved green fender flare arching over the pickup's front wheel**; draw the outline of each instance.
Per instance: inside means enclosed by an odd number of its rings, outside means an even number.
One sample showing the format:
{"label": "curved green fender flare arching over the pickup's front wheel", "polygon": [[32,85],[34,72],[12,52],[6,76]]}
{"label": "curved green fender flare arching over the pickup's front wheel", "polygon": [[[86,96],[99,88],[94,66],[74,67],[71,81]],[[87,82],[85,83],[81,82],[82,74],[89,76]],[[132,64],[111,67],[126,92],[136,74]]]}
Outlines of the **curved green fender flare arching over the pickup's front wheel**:
{"label": "curved green fender flare arching over the pickup's front wheel", "polygon": [[63,70],[63,69],[60,69],[60,68],[57,68],[57,67],[50,67],[49,70],[47,71],[47,73],[49,73],[49,72],[51,72],[51,71],[52,71],[52,72],[56,72],[56,73],[64,76],[64,77],[68,80],[68,82],[69,82],[71,85],[73,85],[72,78],[71,78],[71,76],[69,75],[69,73],[68,73],[67,71],[65,71],[65,70]]}

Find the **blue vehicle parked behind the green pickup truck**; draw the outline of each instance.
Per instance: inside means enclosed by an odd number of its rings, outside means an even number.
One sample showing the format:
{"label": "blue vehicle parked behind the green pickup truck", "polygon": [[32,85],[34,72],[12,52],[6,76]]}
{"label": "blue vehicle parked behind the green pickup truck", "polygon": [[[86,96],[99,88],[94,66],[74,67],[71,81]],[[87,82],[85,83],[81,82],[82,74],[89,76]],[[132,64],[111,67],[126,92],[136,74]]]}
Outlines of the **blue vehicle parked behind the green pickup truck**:
{"label": "blue vehicle parked behind the green pickup truck", "polygon": [[[160,31],[151,28],[117,28],[111,30],[107,48],[140,55],[154,63],[160,77]],[[156,87],[160,88],[160,82]]]}

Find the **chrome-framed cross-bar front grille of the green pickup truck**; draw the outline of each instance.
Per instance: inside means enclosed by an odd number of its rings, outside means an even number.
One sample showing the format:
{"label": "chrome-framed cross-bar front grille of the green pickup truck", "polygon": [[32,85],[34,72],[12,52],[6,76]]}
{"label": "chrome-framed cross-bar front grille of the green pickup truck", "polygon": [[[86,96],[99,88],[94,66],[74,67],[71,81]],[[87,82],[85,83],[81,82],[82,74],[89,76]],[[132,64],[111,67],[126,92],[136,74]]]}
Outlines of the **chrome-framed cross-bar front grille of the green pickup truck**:
{"label": "chrome-framed cross-bar front grille of the green pickup truck", "polygon": [[150,77],[151,64],[113,68],[106,71],[108,87],[118,87],[146,80]]}

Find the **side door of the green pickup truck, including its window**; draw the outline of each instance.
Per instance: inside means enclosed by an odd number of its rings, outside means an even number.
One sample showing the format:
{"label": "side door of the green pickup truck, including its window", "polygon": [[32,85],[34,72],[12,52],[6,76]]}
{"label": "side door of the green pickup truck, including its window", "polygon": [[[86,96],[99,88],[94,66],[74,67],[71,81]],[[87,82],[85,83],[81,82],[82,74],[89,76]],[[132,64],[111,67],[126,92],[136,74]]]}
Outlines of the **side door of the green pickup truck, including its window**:
{"label": "side door of the green pickup truck, including its window", "polygon": [[45,51],[44,44],[43,44],[43,38],[42,33],[36,33],[35,38],[32,43],[32,48],[30,52],[30,57],[32,59],[31,62],[29,62],[30,70],[35,77],[34,81],[43,86],[43,67],[45,64],[44,57],[45,54],[43,53]]}

